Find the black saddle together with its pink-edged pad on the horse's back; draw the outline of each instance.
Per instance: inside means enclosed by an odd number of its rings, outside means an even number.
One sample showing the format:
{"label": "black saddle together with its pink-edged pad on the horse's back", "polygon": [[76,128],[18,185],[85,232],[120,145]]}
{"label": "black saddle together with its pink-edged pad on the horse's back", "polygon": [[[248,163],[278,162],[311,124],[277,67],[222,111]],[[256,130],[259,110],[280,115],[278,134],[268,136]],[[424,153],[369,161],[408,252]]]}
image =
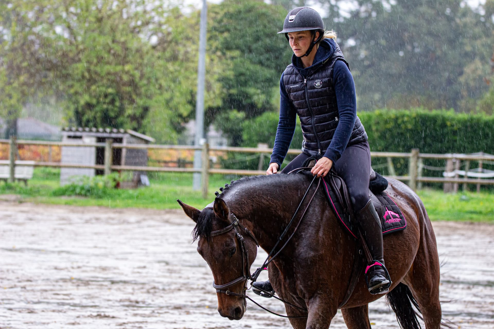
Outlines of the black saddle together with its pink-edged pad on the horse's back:
{"label": "black saddle together with its pink-edged pad on the horse's back", "polygon": [[[336,217],[344,229],[353,237],[359,237],[357,223],[353,220],[353,207],[345,182],[334,171],[330,171],[323,180],[325,194]],[[382,234],[397,232],[407,227],[407,219],[395,201],[384,192],[388,181],[372,170],[369,184],[369,198],[381,219]]]}

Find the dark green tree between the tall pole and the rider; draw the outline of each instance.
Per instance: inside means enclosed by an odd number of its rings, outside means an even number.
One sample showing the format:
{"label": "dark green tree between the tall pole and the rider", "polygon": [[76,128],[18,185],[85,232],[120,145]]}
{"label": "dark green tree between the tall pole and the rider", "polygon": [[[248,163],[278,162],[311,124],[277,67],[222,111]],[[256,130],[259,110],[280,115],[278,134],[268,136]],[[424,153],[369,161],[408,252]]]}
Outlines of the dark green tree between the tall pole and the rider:
{"label": "dark green tree between the tall pole and the rider", "polygon": [[[226,0],[211,5],[210,37],[216,39],[212,52],[225,60],[224,71],[218,76],[224,96],[221,109],[210,107],[209,117],[233,145],[242,141],[234,131],[228,131],[232,122],[218,115],[224,110],[238,111],[246,118],[273,110],[273,89],[279,89],[280,75],[290,63],[291,51],[287,40],[278,35],[286,11],[259,0]],[[274,24],[273,24],[274,23]]]}

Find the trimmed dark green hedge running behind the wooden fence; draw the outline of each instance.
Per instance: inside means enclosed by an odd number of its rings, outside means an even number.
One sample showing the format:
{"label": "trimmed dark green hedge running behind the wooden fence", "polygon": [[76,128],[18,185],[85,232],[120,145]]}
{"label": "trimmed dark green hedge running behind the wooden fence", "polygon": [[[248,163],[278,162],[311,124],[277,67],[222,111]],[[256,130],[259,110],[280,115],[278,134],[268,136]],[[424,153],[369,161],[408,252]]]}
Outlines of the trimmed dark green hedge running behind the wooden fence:
{"label": "trimmed dark green hedge running behind the wooden fence", "polygon": [[[372,151],[410,152],[418,148],[421,153],[494,153],[494,116],[456,113],[453,110],[374,110],[360,112],[359,117],[369,135]],[[258,143],[274,145],[278,113],[265,112],[242,123],[242,146],[255,147]],[[297,121],[290,148],[300,148],[302,131]],[[237,154],[225,159],[228,168],[257,169],[258,161],[242,161],[246,155]],[[287,157],[285,164],[293,156]],[[232,161],[233,160],[233,161]],[[267,168],[269,158],[265,160]],[[383,159],[374,159],[373,165]],[[408,171],[407,159],[394,160],[399,175]],[[427,164],[444,166],[444,161],[431,160]],[[387,170],[380,170],[388,174]],[[427,173],[440,176],[441,173]]]}

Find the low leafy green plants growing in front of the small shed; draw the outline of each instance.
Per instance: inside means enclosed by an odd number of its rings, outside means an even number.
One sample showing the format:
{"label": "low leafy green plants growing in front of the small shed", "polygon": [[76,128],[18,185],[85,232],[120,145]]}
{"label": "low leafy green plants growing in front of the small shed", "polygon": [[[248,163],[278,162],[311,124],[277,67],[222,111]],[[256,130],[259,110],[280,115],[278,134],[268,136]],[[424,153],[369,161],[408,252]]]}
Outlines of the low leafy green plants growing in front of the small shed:
{"label": "low leafy green plants growing in front of the small shed", "polygon": [[79,195],[103,198],[108,196],[110,191],[115,188],[118,180],[118,173],[94,177],[81,176],[77,177],[73,183],[54,189],[52,195]]}

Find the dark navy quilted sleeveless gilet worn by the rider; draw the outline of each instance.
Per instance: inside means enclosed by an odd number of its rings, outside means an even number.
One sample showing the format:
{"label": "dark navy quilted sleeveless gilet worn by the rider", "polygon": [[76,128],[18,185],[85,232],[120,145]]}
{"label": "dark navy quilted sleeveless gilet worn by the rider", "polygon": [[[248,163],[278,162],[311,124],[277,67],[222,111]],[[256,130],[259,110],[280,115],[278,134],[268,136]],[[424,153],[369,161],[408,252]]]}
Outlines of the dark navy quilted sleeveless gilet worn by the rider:
{"label": "dark navy quilted sleeveless gilet worn by the rider", "polygon": [[[283,73],[288,98],[295,107],[302,126],[302,151],[310,150],[324,154],[338,126],[333,67],[338,60],[346,65],[348,63],[338,44],[335,44],[333,53],[321,65],[309,70],[307,76],[303,76],[293,63],[288,65]],[[367,133],[357,116],[347,146],[364,141],[367,141]]]}

